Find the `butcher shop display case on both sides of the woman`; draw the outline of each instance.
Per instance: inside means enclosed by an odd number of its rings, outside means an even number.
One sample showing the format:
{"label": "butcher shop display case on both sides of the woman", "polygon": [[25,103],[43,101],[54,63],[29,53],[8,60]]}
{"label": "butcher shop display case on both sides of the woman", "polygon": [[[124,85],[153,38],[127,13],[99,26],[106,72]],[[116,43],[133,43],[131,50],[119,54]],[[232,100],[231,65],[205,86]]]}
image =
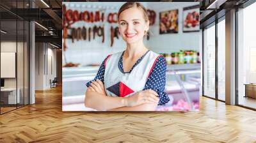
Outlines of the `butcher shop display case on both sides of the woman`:
{"label": "butcher shop display case on both sides of the woman", "polygon": [[[63,68],[63,110],[93,110],[84,107],[84,93],[98,70],[99,66]],[[199,110],[200,75],[200,64],[167,65],[164,91],[170,102],[156,110]]]}

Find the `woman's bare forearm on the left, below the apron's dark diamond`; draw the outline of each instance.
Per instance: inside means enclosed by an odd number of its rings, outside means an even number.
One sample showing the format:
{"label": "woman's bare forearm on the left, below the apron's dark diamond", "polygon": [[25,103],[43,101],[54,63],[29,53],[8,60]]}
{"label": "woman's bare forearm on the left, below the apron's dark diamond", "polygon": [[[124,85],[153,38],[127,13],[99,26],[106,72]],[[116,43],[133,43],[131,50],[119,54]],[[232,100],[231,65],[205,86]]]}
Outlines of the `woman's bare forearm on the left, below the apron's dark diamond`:
{"label": "woman's bare forearm on the left, below the apron's dark diamond", "polygon": [[106,96],[93,91],[86,91],[84,99],[86,107],[96,110],[110,110],[125,107],[127,102],[125,98]]}

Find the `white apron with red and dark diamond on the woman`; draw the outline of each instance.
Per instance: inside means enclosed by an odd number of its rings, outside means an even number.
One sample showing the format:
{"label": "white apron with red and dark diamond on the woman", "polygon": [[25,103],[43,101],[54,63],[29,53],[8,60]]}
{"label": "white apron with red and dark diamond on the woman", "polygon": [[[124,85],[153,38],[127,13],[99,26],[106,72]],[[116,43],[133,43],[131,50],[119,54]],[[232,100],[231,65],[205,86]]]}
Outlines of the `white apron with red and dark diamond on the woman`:
{"label": "white apron with red and dark diamond on the woman", "polygon": [[159,54],[149,50],[131,73],[122,73],[118,68],[122,53],[118,52],[109,56],[105,62],[104,87],[108,96],[132,96],[143,90],[159,57]]}

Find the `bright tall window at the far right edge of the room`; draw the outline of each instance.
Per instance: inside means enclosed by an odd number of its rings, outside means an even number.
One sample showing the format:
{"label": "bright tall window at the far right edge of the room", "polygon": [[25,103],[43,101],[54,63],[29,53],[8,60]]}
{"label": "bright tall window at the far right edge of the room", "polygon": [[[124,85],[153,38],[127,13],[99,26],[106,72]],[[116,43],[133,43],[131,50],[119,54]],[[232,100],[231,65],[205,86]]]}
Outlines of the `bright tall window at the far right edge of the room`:
{"label": "bright tall window at the far right edge of the room", "polygon": [[256,109],[256,3],[237,12],[238,104]]}

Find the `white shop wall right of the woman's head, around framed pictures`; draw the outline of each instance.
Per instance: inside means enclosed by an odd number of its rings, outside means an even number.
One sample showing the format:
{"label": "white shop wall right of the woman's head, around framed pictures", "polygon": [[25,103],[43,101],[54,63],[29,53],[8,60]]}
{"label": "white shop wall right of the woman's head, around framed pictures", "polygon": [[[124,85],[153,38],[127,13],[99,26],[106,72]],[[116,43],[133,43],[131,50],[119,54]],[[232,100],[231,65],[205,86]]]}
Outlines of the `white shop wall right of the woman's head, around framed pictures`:
{"label": "white shop wall right of the woman's head, around framed pictures", "polygon": [[[171,53],[179,50],[197,50],[199,51],[200,35],[199,32],[183,33],[183,8],[199,4],[194,3],[148,3],[148,9],[156,11],[156,23],[150,27],[154,36],[150,36],[147,42],[148,47],[158,53]],[[179,9],[179,33],[159,34],[159,12]]]}

